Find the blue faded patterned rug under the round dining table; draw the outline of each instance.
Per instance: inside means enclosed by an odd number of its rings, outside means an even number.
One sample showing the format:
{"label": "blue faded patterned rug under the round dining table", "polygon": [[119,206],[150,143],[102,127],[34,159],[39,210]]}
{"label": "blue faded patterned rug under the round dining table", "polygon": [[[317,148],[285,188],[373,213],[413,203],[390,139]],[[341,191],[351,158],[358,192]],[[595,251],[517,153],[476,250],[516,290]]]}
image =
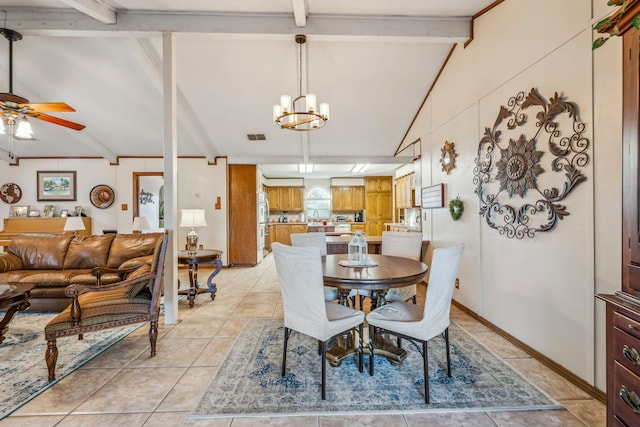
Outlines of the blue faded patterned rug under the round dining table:
{"label": "blue faded patterned rug under the round dining table", "polygon": [[429,342],[430,404],[424,403],[422,356],[407,341],[402,366],[376,356],[373,377],[366,356],[363,373],[358,372],[357,357],[337,368],[328,366],[323,401],[317,342],[292,333],[283,378],[283,333],[281,319],[250,321],[189,418],[562,408],[453,323],[451,378],[446,375],[444,340]]}

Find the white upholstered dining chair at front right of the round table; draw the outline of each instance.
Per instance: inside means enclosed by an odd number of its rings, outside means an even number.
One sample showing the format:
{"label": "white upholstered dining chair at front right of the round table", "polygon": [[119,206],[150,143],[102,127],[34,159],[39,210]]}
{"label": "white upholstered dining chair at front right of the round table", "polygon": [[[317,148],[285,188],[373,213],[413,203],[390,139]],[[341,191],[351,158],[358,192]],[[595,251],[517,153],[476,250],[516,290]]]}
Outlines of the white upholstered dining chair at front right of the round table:
{"label": "white upholstered dining chair at front right of the round table", "polygon": [[[451,377],[451,354],[449,349],[449,313],[456,276],[462,259],[464,245],[452,248],[437,248],[431,261],[427,298],[423,307],[405,301],[396,301],[378,307],[367,315],[369,323],[369,374],[374,371],[374,335],[389,333],[416,343],[421,349],[424,364],[424,401],[429,403],[429,356],[428,341],[442,334],[447,349],[447,375]],[[373,331],[371,330],[373,328]],[[418,345],[422,344],[421,346]]]}

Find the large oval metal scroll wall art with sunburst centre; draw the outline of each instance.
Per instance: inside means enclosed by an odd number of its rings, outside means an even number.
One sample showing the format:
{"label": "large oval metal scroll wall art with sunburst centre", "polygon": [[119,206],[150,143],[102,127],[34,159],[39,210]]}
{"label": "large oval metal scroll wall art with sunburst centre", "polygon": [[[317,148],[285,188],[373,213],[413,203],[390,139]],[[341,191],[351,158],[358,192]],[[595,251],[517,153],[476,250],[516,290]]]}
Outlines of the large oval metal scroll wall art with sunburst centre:
{"label": "large oval metal scroll wall art with sunburst centre", "polygon": [[[478,144],[473,178],[479,213],[491,228],[508,238],[533,238],[569,215],[561,202],[587,179],[581,168],[589,164],[577,110],[557,92],[546,101],[535,88],[500,107]],[[525,111],[535,113],[535,123]],[[537,150],[543,146],[547,151]]]}

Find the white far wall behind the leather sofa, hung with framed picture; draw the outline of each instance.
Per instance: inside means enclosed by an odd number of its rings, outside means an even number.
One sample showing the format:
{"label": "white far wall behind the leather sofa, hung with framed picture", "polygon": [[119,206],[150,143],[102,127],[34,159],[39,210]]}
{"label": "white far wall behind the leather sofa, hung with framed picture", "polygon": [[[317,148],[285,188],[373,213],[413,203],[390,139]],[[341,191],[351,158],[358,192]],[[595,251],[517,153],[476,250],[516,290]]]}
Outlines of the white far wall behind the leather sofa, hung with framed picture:
{"label": "white far wall behind the leather sofa, hung with framed picture", "polygon": [[[92,233],[102,234],[102,230],[116,229],[119,233],[130,233],[133,221],[133,172],[162,172],[160,158],[125,158],[119,165],[110,165],[103,159],[21,159],[19,166],[0,162],[2,184],[14,182],[22,189],[22,199],[18,204],[29,205],[42,211],[45,204],[38,202],[36,188],[37,171],[76,171],[77,200],[57,202],[56,210],[83,206],[84,212],[92,218]],[[200,243],[205,248],[220,249],[223,263],[227,264],[227,168],[226,160],[209,165],[206,159],[178,159],[178,215],[183,208],[206,209],[206,229],[197,230]],[[105,184],[114,189],[115,201],[106,209],[98,209],[89,200],[91,189]],[[1,185],[1,184],[0,184]],[[217,197],[221,209],[215,209]],[[126,206],[126,210],[125,207]],[[9,216],[11,205],[0,202],[0,217]],[[178,243],[186,241],[187,229],[178,229]]]}

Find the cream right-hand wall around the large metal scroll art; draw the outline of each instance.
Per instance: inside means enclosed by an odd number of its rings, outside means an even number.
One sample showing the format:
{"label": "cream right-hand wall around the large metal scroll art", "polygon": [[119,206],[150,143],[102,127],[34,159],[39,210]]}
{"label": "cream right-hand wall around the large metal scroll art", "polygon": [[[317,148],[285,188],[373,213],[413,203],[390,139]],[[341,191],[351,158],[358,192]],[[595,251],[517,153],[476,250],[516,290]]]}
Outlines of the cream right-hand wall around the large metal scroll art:
{"label": "cream right-hand wall around the large metal scroll art", "polygon": [[[596,3],[596,17],[611,12]],[[604,311],[594,294],[620,287],[621,52],[618,39],[592,53],[591,6],[519,0],[482,15],[474,40],[456,47],[407,140],[421,139],[422,185],[443,182],[446,203],[456,196],[465,202],[457,222],[446,208],[423,213],[423,233],[435,247],[465,243],[454,298],[604,390]],[[531,88],[547,100],[558,92],[577,104],[590,162],[581,168],[587,180],[561,203],[570,215],[534,238],[509,239],[478,215],[474,159],[499,108]],[[445,141],[458,153],[450,175],[439,162]],[[541,162],[548,171],[539,182],[551,174],[545,141],[536,147],[546,152]]]}

